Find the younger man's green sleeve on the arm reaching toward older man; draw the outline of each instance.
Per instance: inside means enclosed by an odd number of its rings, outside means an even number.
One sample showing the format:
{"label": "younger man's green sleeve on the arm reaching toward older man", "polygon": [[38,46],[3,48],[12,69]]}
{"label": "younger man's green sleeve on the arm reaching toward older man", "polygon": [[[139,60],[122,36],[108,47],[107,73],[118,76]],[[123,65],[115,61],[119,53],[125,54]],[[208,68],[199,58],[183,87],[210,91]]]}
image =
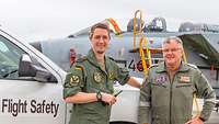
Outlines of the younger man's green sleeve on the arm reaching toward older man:
{"label": "younger man's green sleeve on the arm reaching toward older man", "polygon": [[127,68],[120,68],[115,64],[115,74],[116,74],[116,80],[124,86],[128,79],[130,78],[128,69]]}

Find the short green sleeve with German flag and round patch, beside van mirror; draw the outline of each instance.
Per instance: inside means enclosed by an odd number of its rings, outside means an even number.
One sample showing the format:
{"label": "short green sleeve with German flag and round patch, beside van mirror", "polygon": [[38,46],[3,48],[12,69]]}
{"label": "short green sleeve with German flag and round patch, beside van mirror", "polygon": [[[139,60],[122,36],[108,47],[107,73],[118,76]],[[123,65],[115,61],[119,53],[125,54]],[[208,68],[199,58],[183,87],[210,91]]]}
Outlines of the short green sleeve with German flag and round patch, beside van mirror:
{"label": "short green sleeve with German flag and round patch, beside van mirror", "polygon": [[73,95],[84,87],[84,76],[82,66],[72,66],[66,76],[64,83],[64,98]]}

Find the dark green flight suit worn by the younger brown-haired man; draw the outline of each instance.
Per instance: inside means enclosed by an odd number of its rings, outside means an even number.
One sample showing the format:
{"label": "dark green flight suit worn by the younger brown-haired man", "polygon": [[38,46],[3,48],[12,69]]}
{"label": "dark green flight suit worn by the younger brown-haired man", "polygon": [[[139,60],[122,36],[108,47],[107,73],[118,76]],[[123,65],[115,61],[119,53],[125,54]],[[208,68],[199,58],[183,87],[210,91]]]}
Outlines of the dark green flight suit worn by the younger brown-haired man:
{"label": "dark green flight suit worn by the younger brown-haired man", "polygon": [[[114,81],[125,84],[129,79],[127,69],[119,68],[115,61],[105,56],[106,71],[97,64],[91,49],[87,57],[78,60],[67,75],[64,84],[64,98],[77,92],[114,93]],[[111,105],[102,102],[73,104],[70,124],[110,124]]]}

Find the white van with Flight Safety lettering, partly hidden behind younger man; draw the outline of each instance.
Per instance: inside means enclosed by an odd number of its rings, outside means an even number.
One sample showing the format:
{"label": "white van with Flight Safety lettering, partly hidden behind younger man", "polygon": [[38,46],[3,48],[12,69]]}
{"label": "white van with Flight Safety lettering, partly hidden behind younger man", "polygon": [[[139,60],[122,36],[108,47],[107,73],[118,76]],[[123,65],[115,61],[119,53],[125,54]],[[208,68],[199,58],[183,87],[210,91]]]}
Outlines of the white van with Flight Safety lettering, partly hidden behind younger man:
{"label": "white van with Flight Safety lettering, partly hidden behind younger man", "polygon": [[[62,100],[65,78],[66,71],[0,27],[1,124],[68,124],[71,106]],[[112,124],[136,123],[139,90],[119,84],[115,89],[124,92],[113,106]]]}

